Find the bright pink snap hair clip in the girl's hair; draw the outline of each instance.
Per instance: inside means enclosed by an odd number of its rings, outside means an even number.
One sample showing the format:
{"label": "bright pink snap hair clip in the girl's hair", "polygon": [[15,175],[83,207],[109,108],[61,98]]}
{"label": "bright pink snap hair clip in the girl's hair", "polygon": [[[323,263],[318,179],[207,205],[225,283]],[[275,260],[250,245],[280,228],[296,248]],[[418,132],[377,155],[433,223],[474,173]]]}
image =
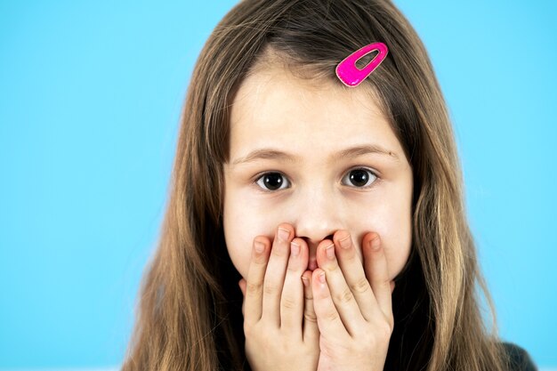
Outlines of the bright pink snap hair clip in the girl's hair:
{"label": "bright pink snap hair clip in the girl's hair", "polygon": [[[374,59],[367,63],[363,69],[356,67],[356,62],[363,56],[370,52],[378,51]],[[354,87],[358,86],[366,79],[385,59],[389,49],[383,43],[373,43],[360,48],[356,52],[352,52],[348,57],[344,58],[336,66],[336,76],[343,82],[344,85]]]}

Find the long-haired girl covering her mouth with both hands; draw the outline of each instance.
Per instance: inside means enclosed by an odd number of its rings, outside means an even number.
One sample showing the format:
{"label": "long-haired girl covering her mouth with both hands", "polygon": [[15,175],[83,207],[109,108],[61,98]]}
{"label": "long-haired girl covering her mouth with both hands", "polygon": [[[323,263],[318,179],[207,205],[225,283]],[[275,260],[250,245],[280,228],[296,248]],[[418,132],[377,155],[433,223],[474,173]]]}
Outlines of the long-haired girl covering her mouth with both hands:
{"label": "long-haired girl covering her mouth with both hands", "polygon": [[391,2],[241,2],[193,73],[123,369],[534,369],[482,323],[458,164]]}

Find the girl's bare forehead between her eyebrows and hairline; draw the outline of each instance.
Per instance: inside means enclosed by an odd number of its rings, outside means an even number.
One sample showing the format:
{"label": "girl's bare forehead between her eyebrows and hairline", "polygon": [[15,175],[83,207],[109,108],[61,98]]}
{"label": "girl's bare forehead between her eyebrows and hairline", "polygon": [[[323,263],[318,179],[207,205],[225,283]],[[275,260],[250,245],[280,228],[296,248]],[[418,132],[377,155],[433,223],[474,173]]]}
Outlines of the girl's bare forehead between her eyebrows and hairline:
{"label": "girl's bare forehead between her eyebrows and hairline", "polygon": [[246,77],[230,112],[230,157],[258,146],[293,150],[341,149],[379,143],[402,154],[400,143],[369,85],[295,77],[270,65]]}

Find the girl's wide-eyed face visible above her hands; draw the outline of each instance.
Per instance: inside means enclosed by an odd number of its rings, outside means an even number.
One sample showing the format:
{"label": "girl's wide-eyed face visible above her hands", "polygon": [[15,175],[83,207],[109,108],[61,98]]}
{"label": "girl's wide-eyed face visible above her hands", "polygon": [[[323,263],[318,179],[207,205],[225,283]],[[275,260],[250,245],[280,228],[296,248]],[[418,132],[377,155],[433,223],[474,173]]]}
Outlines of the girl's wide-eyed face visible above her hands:
{"label": "girl's wide-eyed face visible above her hands", "polygon": [[246,278],[253,239],[272,241],[287,222],[310,250],[348,230],[376,232],[391,278],[411,245],[412,169],[365,84],[316,85],[270,65],[246,77],[230,113],[230,160],[224,165],[224,235]]}

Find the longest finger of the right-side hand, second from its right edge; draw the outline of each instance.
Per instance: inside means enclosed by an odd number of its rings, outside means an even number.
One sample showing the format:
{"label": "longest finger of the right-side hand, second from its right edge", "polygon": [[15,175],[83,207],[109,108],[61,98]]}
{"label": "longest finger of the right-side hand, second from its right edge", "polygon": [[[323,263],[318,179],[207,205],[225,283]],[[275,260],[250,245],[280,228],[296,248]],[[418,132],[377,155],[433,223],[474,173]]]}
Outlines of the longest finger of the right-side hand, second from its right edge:
{"label": "longest finger of the right-side hand, second from its right edge", "polygon": [[346,284],[350,287],[359,311],[364,319],[371,319],[375,308],[375,297],[366,278],[364,266],[359,260],[350,233],[338,230],[333,237],[338,264],[343,271]]}

